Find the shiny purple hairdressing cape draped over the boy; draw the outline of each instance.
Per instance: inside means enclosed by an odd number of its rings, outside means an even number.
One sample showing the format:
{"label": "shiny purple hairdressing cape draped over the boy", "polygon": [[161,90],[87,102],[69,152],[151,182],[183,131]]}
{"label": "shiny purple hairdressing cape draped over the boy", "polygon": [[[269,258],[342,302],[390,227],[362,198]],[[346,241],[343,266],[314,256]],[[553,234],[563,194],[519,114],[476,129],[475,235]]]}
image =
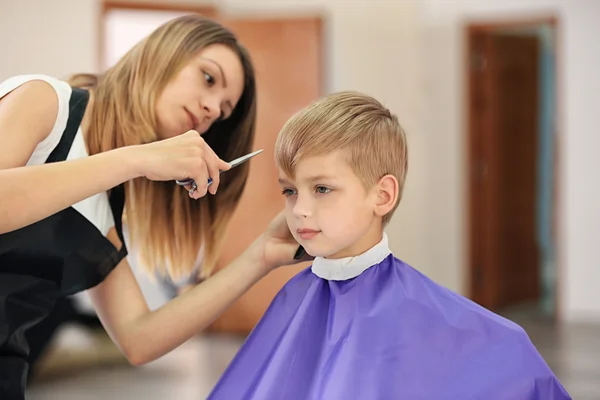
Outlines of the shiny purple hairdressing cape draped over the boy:
{"label": "shiny purple hairdressing cape draped over the boy", "polygon": [[387,256],[277,294],[212,400],[571,399],[524,330]]}

